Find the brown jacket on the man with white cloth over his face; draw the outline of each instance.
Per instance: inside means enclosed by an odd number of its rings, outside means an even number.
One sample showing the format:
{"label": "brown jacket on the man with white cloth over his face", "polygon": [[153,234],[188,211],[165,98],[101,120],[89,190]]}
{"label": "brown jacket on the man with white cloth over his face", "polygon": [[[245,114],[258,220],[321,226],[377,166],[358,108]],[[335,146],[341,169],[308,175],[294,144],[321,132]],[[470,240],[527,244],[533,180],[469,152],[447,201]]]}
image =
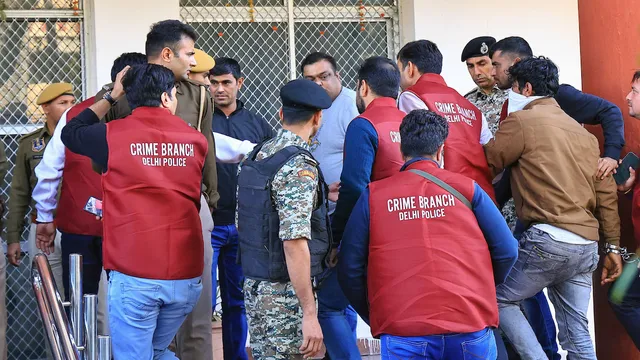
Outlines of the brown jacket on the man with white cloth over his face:
{"label": "brown jacket on the man with white cloth over his face", "polygon": [[618,195],[612,176],[595,176],[598,140],[552,98],[532,101],[500,123],[485,145],[494,175],[511,167],[518,218],[611,244],[620,240]]}

